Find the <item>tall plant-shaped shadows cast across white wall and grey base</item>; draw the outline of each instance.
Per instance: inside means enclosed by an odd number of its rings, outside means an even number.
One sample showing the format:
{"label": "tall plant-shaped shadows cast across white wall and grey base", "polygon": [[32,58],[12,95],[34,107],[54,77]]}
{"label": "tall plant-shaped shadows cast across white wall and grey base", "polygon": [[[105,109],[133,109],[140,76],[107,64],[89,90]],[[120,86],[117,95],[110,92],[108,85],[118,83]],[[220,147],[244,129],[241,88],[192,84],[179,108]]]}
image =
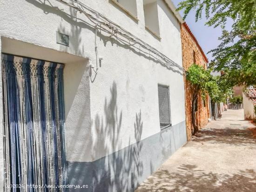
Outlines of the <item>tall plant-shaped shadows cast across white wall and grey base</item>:
{"label": "tall plant-shaped shadows cast across white wall and grey base", "polygon": [[[122,137],[125,132],[122,127],[122,111],[117,106],[117,86],[113,82],[110,88],[111,97],[105,98],[104,115],[96,115],[92,127],[97,138],[93,141],[92,156],[96,160],[93,171],[94,191],[122,191],[135,190],[138,186],[137,179],[143,173],[140,159],[142,149],[141,134],[143,122],[141,111],[136,113],[134,123],[135,144],[121,149]],[[121,150],[120,150],[121,149]]]}

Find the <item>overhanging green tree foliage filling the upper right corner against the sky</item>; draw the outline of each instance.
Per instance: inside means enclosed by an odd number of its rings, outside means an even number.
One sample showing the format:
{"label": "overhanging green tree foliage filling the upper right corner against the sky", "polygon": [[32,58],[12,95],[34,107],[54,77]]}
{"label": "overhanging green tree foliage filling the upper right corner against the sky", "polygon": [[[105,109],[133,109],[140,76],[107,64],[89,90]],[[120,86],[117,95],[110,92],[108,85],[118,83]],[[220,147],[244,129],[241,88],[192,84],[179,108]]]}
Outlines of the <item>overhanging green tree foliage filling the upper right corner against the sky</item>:
{"label": "overhanging green tree foliage filling the upper right corner against the sky", "polygon": [[177,10],[182,9],[183,19],[195,9],[195,21],[204,14],[205,25],[222,27],[221,44],[210,51],[214,70],[224,71],[233,85],[256,85],[256,0],[184,0]]}

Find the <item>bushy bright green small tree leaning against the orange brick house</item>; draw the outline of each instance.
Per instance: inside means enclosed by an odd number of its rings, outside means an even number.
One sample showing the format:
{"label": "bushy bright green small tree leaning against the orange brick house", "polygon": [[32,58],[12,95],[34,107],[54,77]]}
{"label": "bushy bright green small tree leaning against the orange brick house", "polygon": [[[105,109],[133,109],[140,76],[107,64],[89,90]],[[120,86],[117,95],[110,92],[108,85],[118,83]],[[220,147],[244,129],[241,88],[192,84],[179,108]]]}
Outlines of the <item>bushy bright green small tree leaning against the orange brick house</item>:
{"label": "bushy bright green small tree leaning against the orange brick house", "polygon": [[196,89],[200,89],[203,99],[208,93],[214,102],[224,102],[232,94],[232,86],[226,75],[213,76],[211,69],[193,64],[189,67],[186,78]]}

